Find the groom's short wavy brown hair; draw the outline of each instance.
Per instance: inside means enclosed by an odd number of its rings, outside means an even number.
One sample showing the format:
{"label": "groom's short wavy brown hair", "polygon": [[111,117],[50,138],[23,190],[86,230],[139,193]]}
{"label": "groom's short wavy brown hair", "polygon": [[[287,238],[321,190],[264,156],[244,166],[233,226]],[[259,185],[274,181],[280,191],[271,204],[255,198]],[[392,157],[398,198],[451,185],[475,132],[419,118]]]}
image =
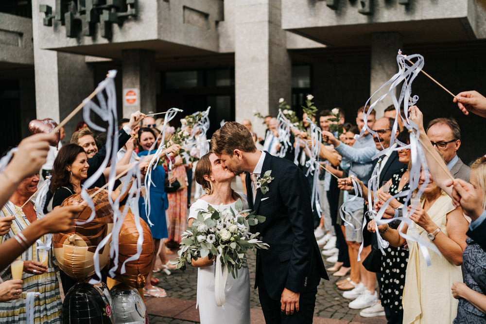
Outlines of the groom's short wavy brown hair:
{"label": "groom's short wavy brown hair", "polygon": [[217,155],[233,155],[234,150],[255,152],[257,147],[246,127],[236,121],[230,121],[214,132],[211,137],[211,150]]}

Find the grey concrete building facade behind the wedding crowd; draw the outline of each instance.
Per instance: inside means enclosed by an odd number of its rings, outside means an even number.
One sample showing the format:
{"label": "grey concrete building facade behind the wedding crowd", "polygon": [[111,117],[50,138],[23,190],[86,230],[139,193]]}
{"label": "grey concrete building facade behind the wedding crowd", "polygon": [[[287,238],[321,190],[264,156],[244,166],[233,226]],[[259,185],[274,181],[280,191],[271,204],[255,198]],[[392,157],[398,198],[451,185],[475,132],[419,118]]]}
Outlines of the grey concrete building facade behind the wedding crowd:
{"label": "grey concrete building facade behind the wedding crowd", "polygon": [[[28,135],[29,120],[63,119],[119,70],[119,115],[134,110],[211,109],[222,119],[276,115],[283,97],[301,112],[312,93],[319,109],[356,110],[396,73],[396,54],[420,53],[424,69],[451,89],[485,93],[483,0],[12,0],[0,4],[2,148]],[[451,96],[419,77],[414,94],[425,118],[451,116],[463,128],[460,156],[481,120],[458,112]],[[128,104],[125,95],[135,93]],[[378,115],[390,104],[377,107]],[[7,113],[8,111],[8,113]],[[81,114],[67,125],[68,136]]]}

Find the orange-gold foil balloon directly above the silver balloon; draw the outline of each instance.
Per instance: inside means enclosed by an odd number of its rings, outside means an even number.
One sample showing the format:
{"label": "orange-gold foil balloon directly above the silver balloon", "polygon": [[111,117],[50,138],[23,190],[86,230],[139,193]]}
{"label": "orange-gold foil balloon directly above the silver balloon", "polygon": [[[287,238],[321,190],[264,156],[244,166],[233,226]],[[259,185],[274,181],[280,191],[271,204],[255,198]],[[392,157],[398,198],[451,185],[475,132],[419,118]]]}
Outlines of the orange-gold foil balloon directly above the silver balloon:
{"label": "orange-gold foil balloon directly above the silver balloon", "polygon": [[123,262],[137,253],[139,232],[135,226],[135,216],[132,213],[126,214],[118,236],[119,256],[115,279],[133,288],[143,288],[145,286],[147,276],[152,270],[152,256],[154,254],[154,239],[152,238],[149,225],[141,218],[140,225],[143,229],[142,252],[138,260],[128,261],[125,264],[126,272],[123,274],[121,274]]}

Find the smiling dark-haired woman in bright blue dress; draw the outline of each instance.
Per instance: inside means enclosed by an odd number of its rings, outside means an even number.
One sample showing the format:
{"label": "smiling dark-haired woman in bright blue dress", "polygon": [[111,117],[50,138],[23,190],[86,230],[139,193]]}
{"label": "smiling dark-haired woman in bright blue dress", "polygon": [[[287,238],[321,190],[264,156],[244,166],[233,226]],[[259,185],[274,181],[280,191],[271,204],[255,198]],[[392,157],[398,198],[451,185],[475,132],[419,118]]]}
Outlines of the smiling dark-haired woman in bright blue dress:
{"label": "smiling dark-haired woman in bright blue dress", "polygon": [[[142,127],[139,130],[139,156],[146,156],[149,153],[150,148],[156,141],[156,136],[154,131],[148,127]],[[161,153],[161,160],[165,158],[165,154],[177,153],[179,151],[179,145],[172,145],[165,150],[165,153]],[[152,152],[155,152],[153,150]],[[152,231],[152,237],[154,238],[155,242],[155,250],[159,250],[160,242],[162,241],[162,248],[160,249],[159,257],[160,261],[162,262],[162,269],[170,274],[169,268],[169,259],[165,254],[165,246],[163,239],[168,238],[167,232],[167,220],[165,217],[165,210],[169,206],[169,202],[167,200],[167,193],[164,191],[164,182],[166,178],[166,172],[162,164],[158,164],[154,170],[152,170],[151,180],[152,184],[150,186],[150,210],[146,210],[145,206],[145,199],[144,197],[140,197],[139,199],[139,212],[140,217],[149,225],[150,230]],[[173,182],[174,179],[169,179],[169,181]],[[149,212],[149,217],[147,217],[147,213]],[[148,219],[150,218],[150,222]],[[153,225],[151,225],[152,223]],[[154,253],[154,260],[152,263],[152,267],[155,266],[156,262],[156,252]],[[150,273],[147,277],[147,284],[143,288],[143,293],[145,296],[152,296],[152,297],[166,297],[167,293],[165,290],[154,287],[158,283],[158,279],[152,277],[152,273]]]}

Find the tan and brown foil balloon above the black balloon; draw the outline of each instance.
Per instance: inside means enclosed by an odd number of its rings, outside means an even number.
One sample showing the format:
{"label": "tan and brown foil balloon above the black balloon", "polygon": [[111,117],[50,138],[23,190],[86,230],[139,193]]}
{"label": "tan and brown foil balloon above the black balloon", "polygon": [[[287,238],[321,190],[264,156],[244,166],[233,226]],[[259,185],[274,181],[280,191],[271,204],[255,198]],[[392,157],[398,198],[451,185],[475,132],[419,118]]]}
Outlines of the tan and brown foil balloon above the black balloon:
{"label": "tan and brown foil balloon above the black balloon", "polygon": [[[91,195],[96,189],[87,190]],[[98,244],[113,228],[113,209],[108,202],[106,190],[97,193],[93,198],[95,218],[86,224],[71,227],[68,232],[54,234],[52,245],[59,268],[74,279],[84,279],[95,273],[93,257]],[[64,200],[61,206],[80,205],[83,202],[81,193],[75,193]],[[86,221],[91,215],[91,208],[85,206],[78,217]],[[110,242],[99,252],[100,269],[109,262]]]}

